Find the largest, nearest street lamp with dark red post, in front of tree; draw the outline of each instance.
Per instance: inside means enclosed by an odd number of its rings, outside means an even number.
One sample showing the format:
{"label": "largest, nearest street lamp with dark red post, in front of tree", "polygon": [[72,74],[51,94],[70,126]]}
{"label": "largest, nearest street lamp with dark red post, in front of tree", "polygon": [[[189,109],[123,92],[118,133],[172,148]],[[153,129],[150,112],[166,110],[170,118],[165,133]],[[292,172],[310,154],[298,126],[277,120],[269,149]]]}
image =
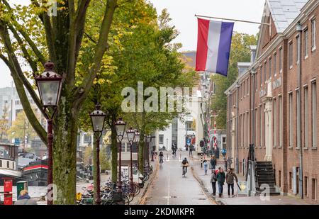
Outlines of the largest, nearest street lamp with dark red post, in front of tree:
{"label": "largest, nearest street lamp with dark red post, in front of tree", "polygon": [[[53,183],[53,173],[52,173],[52,166],[53,166],[53,159],[52,159],[52,141],[53,141],[53,117],[57,112],[57,104],[60,100],[60,93],[62,88],[62,77],[60,74],[57,74],[53,71],[55,64],[48,61],[44,65],[45,71],[43,74],[35,77],[35,82],[39,90],[40,100],[43,105],[44,109],[44,116],[47,119],[47,153],[48,153],[48,160],[47,160],[47,205],[52,205],[52,197],[49,198],[48,195],[51,194],[50,191],[52,190],[52,183]],[[52,108],[53,112],[49,115],[45,111],[47,108]]]}

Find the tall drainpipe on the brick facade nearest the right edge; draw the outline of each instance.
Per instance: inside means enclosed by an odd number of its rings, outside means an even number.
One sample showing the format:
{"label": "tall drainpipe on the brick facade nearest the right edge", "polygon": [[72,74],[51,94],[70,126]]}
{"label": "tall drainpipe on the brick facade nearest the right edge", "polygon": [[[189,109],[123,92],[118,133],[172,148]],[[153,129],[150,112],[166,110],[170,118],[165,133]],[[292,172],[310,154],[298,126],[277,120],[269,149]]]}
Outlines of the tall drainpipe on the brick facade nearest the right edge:
{"label": "tall drainpipe on the brick facade nearest the right edge", "polygon": [[[296,30],[298,31],[299,35],[299,42],[298,42],[298,86],[299,86],[299,100],[297,102],[298,106],[298,116],[297,116],[297,126],[299,126],[299,130],[297,133],[297,139],[298,139],[298,147],[300,150],[299,153],[299,194],[300,197],[303,198],[303,147],[301,144],[301,33],[303,31],[303,27],[301,26],[301,23],[298,22],[296,25]],[[306,112],[305,112],[306,113]]]}

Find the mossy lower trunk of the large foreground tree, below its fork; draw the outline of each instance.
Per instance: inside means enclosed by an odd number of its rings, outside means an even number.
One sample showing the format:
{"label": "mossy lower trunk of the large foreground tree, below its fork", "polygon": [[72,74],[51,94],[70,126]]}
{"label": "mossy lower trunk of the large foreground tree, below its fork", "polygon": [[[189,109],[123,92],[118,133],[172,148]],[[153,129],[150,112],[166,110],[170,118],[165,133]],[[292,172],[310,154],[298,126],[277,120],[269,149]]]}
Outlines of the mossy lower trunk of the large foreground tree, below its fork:
{"label": "mossy lower trunk of the large foreground tree, below its fork", "polygon": [[79,111],[61,97],[54,122],[53,183],[57,186],[55,204],[76,204],[77,128]]}

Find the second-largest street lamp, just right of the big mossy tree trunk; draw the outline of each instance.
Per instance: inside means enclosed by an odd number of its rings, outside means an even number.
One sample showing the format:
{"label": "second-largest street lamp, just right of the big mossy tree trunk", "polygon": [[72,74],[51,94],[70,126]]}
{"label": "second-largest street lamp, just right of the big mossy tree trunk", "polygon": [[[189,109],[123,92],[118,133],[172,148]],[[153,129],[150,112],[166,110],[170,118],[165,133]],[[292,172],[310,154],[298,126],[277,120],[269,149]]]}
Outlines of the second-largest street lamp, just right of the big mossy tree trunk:
{"label": "second-largest street lamp, just right of the big mossy tree trunk", "polygon": [[104,121],[106,114],[101,111],[101,105],[99,103],[95,106],[95,111],[90,113],[92,128],[94,132],[94,136],[96,137],[96,205],[101,204],[101,196],[100,196],[100,138],[102,135]]}

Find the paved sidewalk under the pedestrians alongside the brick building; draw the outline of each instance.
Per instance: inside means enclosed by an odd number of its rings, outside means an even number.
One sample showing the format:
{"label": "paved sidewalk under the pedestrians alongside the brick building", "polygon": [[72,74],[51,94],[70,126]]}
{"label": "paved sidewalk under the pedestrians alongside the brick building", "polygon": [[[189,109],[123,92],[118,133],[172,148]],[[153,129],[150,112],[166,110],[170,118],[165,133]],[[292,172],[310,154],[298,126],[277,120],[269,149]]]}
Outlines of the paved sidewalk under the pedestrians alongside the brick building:
{"label": "paved sidewalk under the pedestrians alongside the brick building", "polygon": [[[210,158],[206,158],[209,162]],[[225,205],[307,205],[306,201],[303,201],[298,198],[294,198],[291,196],[269,196],[268,200],[262,200],[259,196],[237,196],[238,187],[234,186],[234,194],[236,195],[233,198],[228,198],[228,187],[225,183],[223,186],[223,197],[219,198],[218,196],[213,197],[211,193],[213,193],[213,189],[211,187],[211,169],[208,166],[207,175],[205,175],[203,167],[201,168],[201,156],[194,155],[194,158],[191,158],[191,167],[194,169],[194,174],[198,177],[198,183],[201,184],[202,189],[208,191],[209,196],[213,198],[218,204]],[[217,167],[224,168],[223,158],[218,159]],[[245,181],[245,176],[237,176],[239,181]],[[230,191],[231,192],[231,191]],[[216,184],[216,195],[218,195],[218,185]],[[266,197],[263,197],[266,199]]]}

